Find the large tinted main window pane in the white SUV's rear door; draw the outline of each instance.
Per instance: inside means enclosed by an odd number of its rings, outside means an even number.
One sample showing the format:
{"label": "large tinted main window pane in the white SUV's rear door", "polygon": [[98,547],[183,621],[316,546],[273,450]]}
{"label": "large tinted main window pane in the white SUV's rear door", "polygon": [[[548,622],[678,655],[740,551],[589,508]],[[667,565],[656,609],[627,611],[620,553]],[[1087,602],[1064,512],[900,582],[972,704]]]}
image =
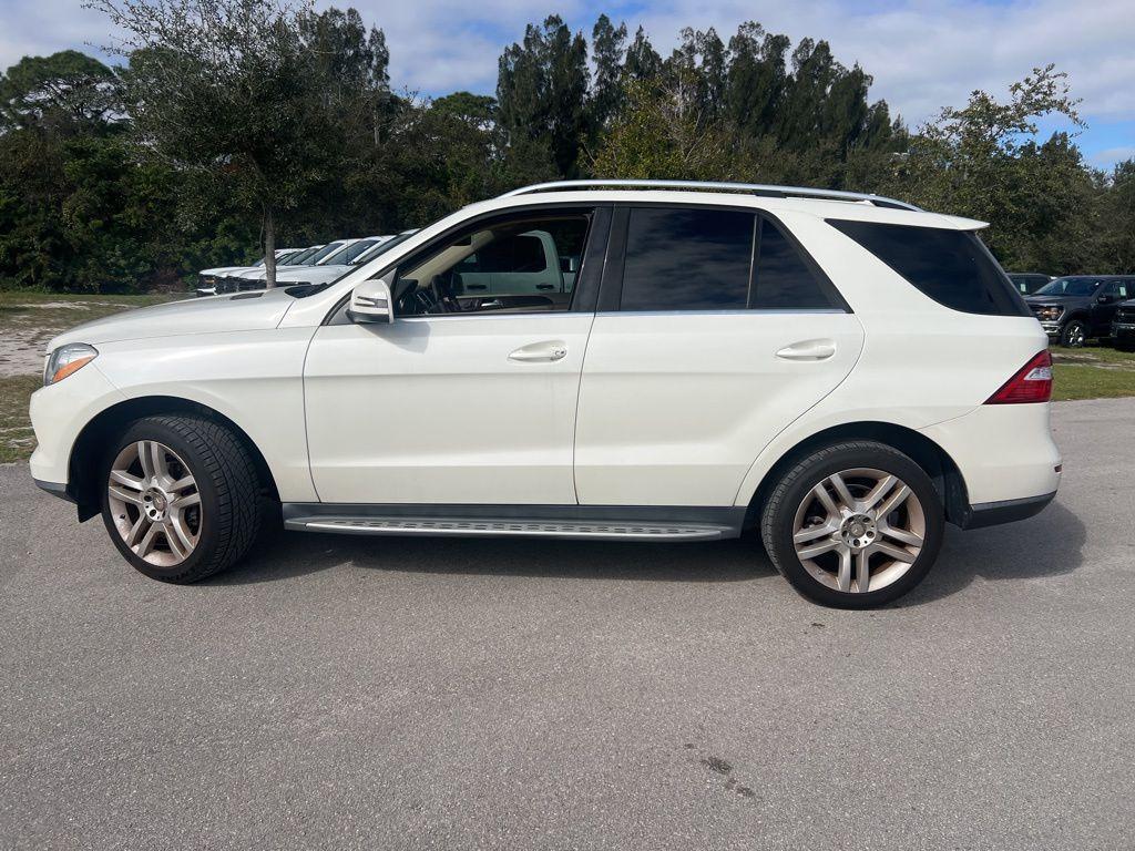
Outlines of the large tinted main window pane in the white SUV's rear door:
{"label": "large tinted main window pane in the white SUV's rear door", "polygon": [[754,216],[730,210],[630,211],[622,310],[743,310]]}

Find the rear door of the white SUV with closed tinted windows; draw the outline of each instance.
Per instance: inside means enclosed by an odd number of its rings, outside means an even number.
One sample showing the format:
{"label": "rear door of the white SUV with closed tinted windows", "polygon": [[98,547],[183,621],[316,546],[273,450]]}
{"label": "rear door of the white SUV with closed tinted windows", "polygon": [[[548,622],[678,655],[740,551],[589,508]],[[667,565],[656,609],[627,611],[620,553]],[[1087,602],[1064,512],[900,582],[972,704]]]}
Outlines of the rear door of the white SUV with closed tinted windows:
{"label": "rear door of the white SUV with closed tinted windows", "polygon": [[580,386],[580,503],[732,505],[762,448],[861,347],[856,317],[772,218],[619,209]]}

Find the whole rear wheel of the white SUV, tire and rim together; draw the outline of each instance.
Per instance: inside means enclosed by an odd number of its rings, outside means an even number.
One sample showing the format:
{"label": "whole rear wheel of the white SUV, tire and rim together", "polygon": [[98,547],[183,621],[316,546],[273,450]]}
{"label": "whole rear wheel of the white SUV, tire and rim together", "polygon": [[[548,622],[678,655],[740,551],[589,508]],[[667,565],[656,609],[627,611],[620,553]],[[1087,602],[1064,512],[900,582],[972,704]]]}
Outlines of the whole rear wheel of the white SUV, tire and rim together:
{"label": "whole rear wheel of the white SUV, tire and rim together", "polygon": [[855,441],[789,470],[760,526],[773,564],[805,597],[871,608],[925,578],[942,546],[944,513],[918,464],[883,444]]}

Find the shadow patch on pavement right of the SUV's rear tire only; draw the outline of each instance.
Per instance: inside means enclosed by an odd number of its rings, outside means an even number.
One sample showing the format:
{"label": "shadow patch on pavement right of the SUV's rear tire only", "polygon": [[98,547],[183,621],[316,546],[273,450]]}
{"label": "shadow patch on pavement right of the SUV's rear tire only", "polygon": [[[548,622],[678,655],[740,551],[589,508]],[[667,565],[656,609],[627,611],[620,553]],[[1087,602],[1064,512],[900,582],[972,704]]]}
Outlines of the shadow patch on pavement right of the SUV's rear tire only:
{"label": "shadow patch on pavement right of the SUV's rear tire only", "polygon": [[938,564],[897,607],[919,606],[949,597],[976,578],[987,581],[1041,579],[1071,573],[1083,563],[1087,529],[1054,502],[1019,523],[965,532],[948,525]]}

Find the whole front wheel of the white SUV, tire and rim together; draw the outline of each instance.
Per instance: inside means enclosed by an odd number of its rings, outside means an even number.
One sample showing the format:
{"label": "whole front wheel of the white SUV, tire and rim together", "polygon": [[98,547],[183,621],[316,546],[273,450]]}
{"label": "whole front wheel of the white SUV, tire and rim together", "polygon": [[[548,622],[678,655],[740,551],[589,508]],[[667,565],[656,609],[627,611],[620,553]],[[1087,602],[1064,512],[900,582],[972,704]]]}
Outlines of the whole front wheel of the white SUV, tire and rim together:
{"label": "whole front wheel of the white SUV, tire and rim together", "polygon": [[127,562],[151,579],[188,583],[237,562],[260,530],[255,466],[211,420],[148,416],[103,464],[102,519]]}

